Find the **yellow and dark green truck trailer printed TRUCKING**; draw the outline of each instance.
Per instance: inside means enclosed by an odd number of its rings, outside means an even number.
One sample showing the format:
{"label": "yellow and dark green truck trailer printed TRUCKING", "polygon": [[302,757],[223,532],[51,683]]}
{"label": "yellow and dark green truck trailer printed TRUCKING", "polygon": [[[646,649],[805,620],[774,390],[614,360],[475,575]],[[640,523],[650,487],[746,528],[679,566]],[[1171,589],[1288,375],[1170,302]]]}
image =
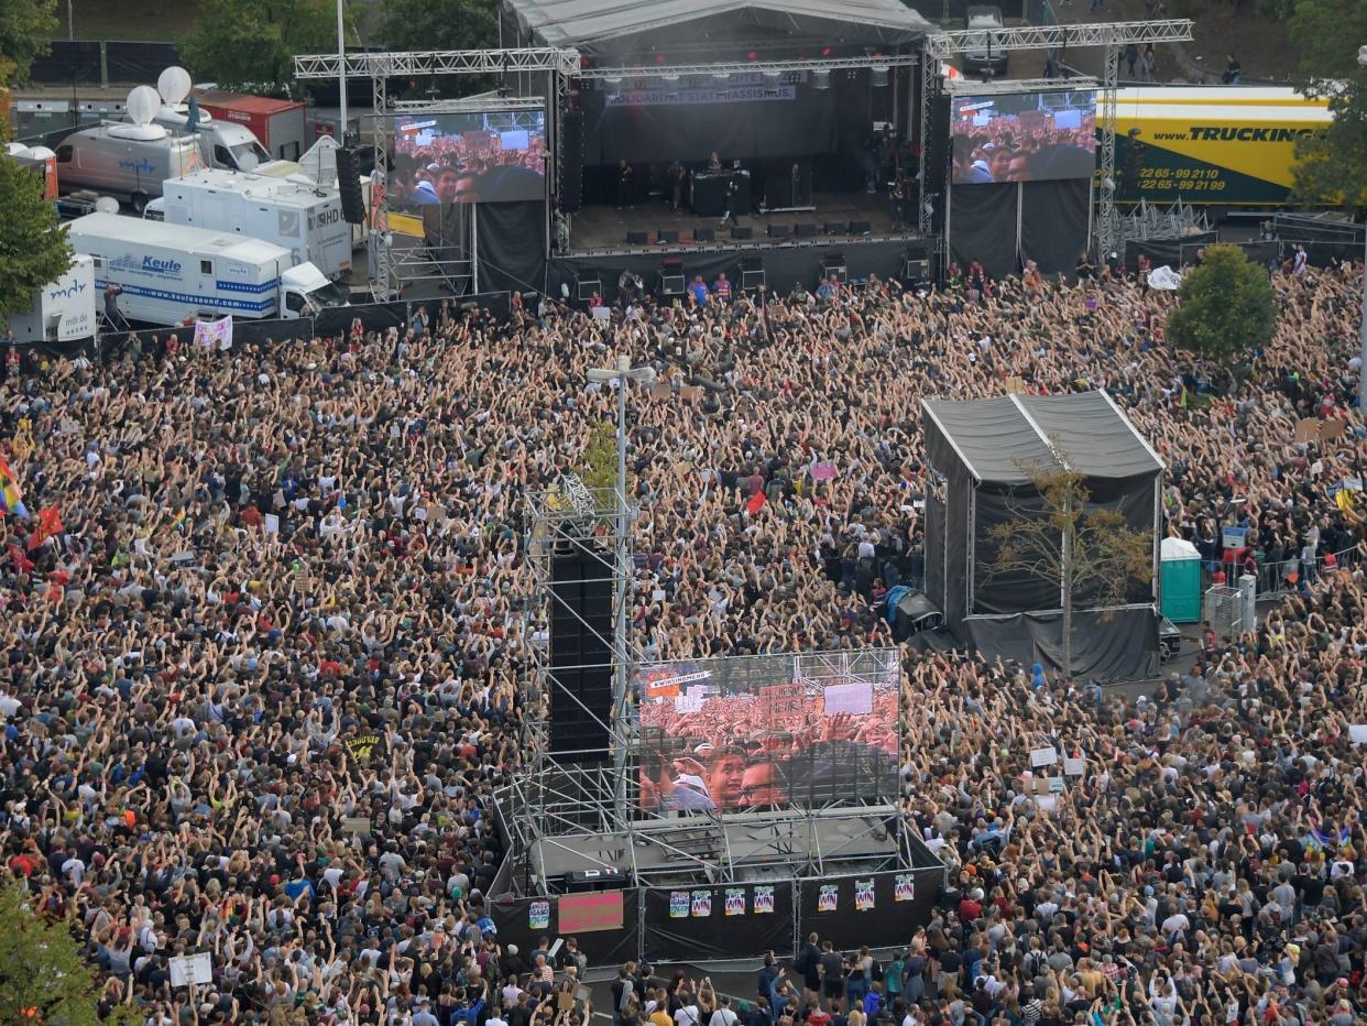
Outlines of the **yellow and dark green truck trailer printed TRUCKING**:
{"label": "yellow and dark green truck trailer printed TRUCKING", "polygon": [[[1102,122],[1098,94],[1096,122]],[[1121,89],[1117,202],[1281,207],[1296,141],[1330,123],[1329,101],[1284,88]]]}

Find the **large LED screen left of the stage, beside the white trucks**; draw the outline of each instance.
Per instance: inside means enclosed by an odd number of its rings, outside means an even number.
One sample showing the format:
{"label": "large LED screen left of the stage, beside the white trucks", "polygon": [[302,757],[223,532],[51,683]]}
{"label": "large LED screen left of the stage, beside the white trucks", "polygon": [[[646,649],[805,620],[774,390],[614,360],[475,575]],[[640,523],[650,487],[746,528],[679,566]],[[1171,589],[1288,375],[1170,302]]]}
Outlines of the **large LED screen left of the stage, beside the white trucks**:
{"label": "large LED screen left of the stage, beside the white trucks", "polygon": [[390,204],[545,198],[545,111],[401,115]]}

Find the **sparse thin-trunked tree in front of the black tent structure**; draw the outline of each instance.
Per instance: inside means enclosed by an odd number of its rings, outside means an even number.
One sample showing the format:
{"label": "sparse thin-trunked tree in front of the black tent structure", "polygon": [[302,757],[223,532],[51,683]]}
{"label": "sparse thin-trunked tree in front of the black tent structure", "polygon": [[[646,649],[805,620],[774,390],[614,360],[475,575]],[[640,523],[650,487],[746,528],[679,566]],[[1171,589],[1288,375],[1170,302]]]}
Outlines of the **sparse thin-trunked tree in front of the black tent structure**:
{"label": "sparse thin-trunked tree in front of the black tent structure", "polygon": [[1087,594],[1096,606],[1128,602],[1135,584],[1154,580],[1154,536],[1132,528],[1115,510],[1088,508],[1087,476],[1069,465],[1065,453],[1055,458],[1043,466],[1021,466],[1033,486],[1032,498],[1012,502],[1013,518],[987,532],[997,549],[987,570],[1058,583],[1062,665],[1072,672],[1074,595]]}

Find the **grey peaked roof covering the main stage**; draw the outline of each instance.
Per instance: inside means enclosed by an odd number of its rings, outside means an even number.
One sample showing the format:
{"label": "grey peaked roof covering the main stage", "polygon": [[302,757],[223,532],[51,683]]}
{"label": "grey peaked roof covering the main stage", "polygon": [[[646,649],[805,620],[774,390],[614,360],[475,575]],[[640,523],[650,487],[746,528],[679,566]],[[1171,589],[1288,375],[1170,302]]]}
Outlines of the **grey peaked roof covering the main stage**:
{"label": "grey peaked roof covering the main stage", "polygon": [[655,31],[656,47],[667,52],[679,26],[707,21],[725,25],[729,37],[752,27],[854,45],[915,42],[931,29],[901,0],[503,0],[503,5],[525,40],[591,56]]}

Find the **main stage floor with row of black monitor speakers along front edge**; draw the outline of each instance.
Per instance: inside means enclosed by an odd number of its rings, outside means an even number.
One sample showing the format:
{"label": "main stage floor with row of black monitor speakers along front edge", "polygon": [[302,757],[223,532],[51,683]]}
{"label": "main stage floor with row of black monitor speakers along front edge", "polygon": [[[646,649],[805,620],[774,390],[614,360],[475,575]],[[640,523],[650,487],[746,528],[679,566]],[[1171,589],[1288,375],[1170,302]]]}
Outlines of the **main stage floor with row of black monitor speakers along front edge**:
{"label": "main stage floor with row of black monitor speakers along front edge", "polygon": [[[910,208],[913,204],[908,204]],[[915,211],[908,209],[908,213]],[[715,248],[730,242],[831,242],[871,238],[912,238],[915,233],[897,228],[893,224],[891,201],[887,193],[819,193],[812,197],[808,209],[786,212],[750,213],[744,212],[737,226],[749,228],[750,239],[733,238],[731,224],[718,228],[719,218],[697,216],[684,209],[674,213],[659,198],[627,208],[585,207],[570,222],[569,256],[619,256],[629,253],[688,253],[700,248]],[[850,230],[850,224],[856,230]],[[785,231],[787,238],[771,237],[770,228]],[[699,228],[712,228],[715,241],[699,242],[694,233]],[[833,228],[834,231],[827,231]],[[660,233],[678,233],[677,242],[660,242]],[[809,231],[809,235],[801,233]],[[644,233],[647,242],[640,241]],[[637,235],[637,241],[630,241]]]}

